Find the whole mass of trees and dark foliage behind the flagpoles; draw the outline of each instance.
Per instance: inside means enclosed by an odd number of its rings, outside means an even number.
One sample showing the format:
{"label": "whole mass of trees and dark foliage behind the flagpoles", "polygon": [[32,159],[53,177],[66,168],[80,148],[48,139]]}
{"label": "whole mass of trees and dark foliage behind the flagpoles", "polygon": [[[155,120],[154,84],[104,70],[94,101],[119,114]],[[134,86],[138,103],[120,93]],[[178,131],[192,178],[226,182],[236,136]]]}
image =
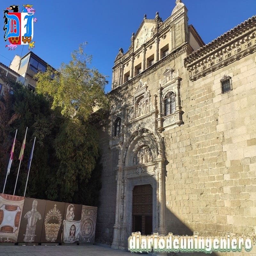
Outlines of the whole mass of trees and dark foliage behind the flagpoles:
{"label": "whole mass of trees and dark foliage behind the flagpoles", "polygon": [[[18,192],[23,195],[27,164],[33,139],[36,145],[31,164],[27,196],[79,204],[97,204],[100,184],[97,123],[92,113],[108,108],[104,94],[106,77],[87,64],[91,56],[84,45],[72,53],[72,60],[59,70],[38,73],[36,93],[19,84],[13,95],[0,103],[0,175],[3,180],[11,141],[18,129],[14,159],[6,192],[13,193],[17,159],[26,127],[27,142],[21,162]],[[102,111],[99,111],[99,113]],[[97,162],[97,164],[96,164]],[[96,166],[96,167],[95,167]]]}

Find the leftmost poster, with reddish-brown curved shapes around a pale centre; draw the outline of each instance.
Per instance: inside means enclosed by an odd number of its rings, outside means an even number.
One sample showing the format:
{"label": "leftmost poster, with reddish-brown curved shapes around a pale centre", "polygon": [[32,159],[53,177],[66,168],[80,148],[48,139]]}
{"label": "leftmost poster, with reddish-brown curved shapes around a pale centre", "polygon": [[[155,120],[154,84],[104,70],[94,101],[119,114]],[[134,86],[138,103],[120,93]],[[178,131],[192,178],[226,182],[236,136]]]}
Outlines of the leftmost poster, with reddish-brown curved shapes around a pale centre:
{"label": "leftmost poster, with reddish-brown curved shapes around a pale centre", "polygon": [[0,243],[17,242],[23,204],[23,196],[0,194]]}

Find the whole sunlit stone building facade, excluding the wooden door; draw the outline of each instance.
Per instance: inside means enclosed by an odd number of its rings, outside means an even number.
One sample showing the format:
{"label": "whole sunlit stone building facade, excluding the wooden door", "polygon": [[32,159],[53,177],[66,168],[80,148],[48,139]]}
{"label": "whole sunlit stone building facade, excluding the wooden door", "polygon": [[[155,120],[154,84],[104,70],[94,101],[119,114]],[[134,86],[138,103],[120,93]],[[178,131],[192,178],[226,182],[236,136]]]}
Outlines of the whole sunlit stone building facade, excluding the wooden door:
{"label": "whole sunlit stone building facade, excluding the wooden door", "polygon": [[132,189],[143,184],[153,188],[154,232],[256,233],[255,28],[253,16],[204,45],[177,0],[164,22],[144,17],[119,50],[100,131],[96,242],[127,248]]}

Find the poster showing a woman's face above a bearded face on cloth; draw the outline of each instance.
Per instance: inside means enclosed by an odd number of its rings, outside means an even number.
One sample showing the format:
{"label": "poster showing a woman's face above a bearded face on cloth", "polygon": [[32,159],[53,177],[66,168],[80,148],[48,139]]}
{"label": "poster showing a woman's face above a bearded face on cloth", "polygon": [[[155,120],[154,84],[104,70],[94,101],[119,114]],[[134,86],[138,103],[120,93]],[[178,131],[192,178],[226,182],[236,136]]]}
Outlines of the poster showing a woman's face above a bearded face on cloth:
{"label": "poster showing a woman's face above a bearded face on cloth", "polygon": [[78,243],[81,224],[82,204],[65,204],[62,243]]}

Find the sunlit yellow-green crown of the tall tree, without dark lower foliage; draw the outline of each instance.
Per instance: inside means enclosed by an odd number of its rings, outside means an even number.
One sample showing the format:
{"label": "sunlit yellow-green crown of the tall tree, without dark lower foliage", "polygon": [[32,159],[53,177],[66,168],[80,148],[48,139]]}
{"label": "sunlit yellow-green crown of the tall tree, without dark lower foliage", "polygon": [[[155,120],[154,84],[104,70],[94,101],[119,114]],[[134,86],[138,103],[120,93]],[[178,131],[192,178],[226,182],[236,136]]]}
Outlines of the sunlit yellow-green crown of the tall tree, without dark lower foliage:
{"label": "sunlit yellow-green crown of the tall tree, without dark lower foliage", "polygon": [[36,92],[42,93],[53,109],[60,107],[63,116],[86,121],[96,109],[108,106],[104,93],[108,81],[97,69],[87,66],[92,56],[84,52],[85,45],[72,52],[72,60],[62,63],[59,70],[38,73]]}

